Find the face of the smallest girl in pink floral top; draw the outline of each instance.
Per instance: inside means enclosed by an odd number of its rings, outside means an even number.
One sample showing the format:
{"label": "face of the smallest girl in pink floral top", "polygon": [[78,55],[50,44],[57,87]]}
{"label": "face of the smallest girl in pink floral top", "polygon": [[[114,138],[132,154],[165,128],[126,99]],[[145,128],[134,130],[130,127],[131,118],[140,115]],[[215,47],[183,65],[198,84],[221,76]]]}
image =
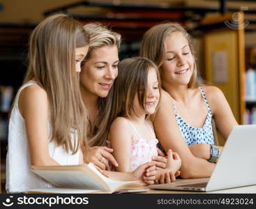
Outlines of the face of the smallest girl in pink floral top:
{"label": "face of the smallest girl in pink floral top", "polygon": [[[143,93],[143,92],[142,92]],[[135,95],[135,100],[133,101],[133,109],[137,115],[140,114],[154,114],[156,107],[159,102],[160,92],[158,88],[158,77],[156,75],[156,69],[149,68],[148,80],[146,86],[146,101],[144,106],[146,111],[141,107],[138,95]]]}

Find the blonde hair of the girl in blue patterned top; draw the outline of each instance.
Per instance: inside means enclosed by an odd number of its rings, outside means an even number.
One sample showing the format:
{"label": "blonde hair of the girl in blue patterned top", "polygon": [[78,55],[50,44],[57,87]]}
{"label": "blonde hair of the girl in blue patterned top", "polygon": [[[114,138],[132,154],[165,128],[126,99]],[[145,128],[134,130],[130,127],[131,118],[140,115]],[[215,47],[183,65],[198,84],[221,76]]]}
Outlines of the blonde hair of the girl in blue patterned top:
{"label": "blonde hair of the girl in blue patterned top", "polygon": [[[193,48],[192,38],[189,33],[178,23],[168,22],[158,24],[151,27],[142,38],[142,47],[140,49],[140,56],[146,57],[156,63],[161,72],[161,66],[166,54],[167,37],[171,33],[179,31],[188,40],[191,54],[194,58],[193,74],[188,83],[188,88],[196,88],[197,84],[197,65],[195,63],[195,51]],[[164,87],[164,86],[163,86]]]}

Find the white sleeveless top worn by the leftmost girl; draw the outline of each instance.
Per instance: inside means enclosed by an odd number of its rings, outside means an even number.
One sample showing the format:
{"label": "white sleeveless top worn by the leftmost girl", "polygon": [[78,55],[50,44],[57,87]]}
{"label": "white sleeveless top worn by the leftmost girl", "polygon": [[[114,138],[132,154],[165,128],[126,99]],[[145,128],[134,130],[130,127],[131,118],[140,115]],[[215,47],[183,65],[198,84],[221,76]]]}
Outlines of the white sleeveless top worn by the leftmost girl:
{"label": "white sleeveless top worn by the leftmost girl", "polygon": [[[34,81],[24,84],[17,92],[14,100],[13,109],[10,114],[8,130],[8,153],[6,157],[6,191],[25,192],[28,189],[52,187],[50,183],[36,176],[31,172],[31,161],[29,155],[29,145],[26,134],[24,118],[20,114],[18,100],[20,92],[27,86],[37,85]],[[49,152],[50,157],[61,165],[79,164],[80,150],[72,155],[67,153],[63,146],[56,146],[50,141],[51,127],[48,123]],[[74,140],[74,134],[71,135]]]}

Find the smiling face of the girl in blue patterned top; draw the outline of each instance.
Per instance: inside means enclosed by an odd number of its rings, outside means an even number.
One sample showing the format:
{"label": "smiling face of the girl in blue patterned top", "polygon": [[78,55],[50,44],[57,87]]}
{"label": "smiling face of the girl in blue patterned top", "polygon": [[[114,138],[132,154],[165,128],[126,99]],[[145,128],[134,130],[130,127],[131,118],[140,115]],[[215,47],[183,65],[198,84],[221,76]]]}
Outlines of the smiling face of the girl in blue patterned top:
{"label": "smiling face of the girl in blue patterned top", "polygon": [[179,31],[167,37],[167,48],[160,68],[163,85],[188,85],[194,70],[194,58],[188,40]]}

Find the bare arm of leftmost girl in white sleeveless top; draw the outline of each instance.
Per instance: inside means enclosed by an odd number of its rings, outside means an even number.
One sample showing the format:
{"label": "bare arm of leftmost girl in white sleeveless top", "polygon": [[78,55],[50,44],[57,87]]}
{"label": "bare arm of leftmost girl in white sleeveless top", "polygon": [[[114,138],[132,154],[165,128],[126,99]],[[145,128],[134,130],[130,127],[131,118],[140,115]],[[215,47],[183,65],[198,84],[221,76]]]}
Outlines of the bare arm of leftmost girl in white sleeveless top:
{"label": "bare arm of leftmost girl in white sleeveless top", "polygon": [[28,86],[20,93],[18,105],[26,125],[31,164],[35,166],[58,165],[50,157],[48,150],[47,93],[40,86]]}

